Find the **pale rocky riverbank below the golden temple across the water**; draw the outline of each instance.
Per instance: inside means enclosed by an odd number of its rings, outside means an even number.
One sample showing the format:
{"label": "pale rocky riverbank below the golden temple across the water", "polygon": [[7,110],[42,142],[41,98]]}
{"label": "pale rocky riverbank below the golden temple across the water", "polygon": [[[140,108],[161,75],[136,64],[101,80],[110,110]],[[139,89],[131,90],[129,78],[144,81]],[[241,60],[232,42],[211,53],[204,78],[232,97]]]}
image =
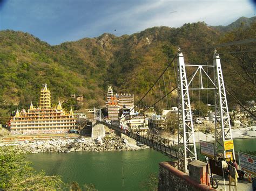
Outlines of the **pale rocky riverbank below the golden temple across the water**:
{"label": "pale rocky riverbank below the golden temple across the water", "polygon": [[72,138],[72,139],[51,139],[51,140],[25,140],[5,146],[14,145],[19,153],[40,153],[40,152],[78,152],[93,151],[105,152],[114,150],[134,151],[140,147],[130,145],[125,138],[118,136],[97,138]]}

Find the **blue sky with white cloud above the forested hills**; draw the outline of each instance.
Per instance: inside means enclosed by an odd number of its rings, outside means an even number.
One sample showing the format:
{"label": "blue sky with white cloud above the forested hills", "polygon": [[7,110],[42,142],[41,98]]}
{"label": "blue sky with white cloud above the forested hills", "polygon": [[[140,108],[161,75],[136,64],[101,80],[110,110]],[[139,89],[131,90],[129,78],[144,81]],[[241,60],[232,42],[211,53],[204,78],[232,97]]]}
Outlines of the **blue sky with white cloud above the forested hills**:
{"label": "blue sky with white cloud above the forested hills", "polygon": [[242,16],[255,16],[255,1],[0,0],[0,30],[28,32],[51,45],[198,21],[226,26]]}

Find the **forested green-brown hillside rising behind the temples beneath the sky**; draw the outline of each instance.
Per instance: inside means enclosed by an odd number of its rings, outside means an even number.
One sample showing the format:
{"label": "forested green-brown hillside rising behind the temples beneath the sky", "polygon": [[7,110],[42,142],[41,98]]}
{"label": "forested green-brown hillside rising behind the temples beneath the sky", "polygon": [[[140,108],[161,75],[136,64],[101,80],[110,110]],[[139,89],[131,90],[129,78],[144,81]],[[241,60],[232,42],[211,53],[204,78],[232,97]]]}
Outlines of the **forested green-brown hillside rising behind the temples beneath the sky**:
{"label": "forested green-brown hillside rising behind the temples beneath the sky", "polygon": [[[204,22],[179,28],[152,27],[131,35],[103,34],[57,46],[50,46],[29,33],[0,31],[0,116],[3,116],[0,120],[11,110],[28,108],[31,101],[37,104],[42,83],[48,83],[53,103],[67,102],[75,93],[84,96],[85,107],[102,105],[110,84],[115,92],[131,92],[138,98],[176,54],[178,45],[186,61],[202,63],[212,58],[213,50],[196,51],[196,48],[254,38],[255,17],[242,18],[242,22],[246,24],[241,25],[238,19],[232,27],[213,27]],[[224,47],[218,51],[250,48],[253,45]],[[243,63],[255,58],[252,52],[243,54]],[[250,76],[250,71],[239,66],[237,55],[221,55],[225,82],[234,92],[240,88],[235,92],[240,100],[250,100],[255,94],[246,91],[255,90],[254,75]],[[172,81],[175,83],[173,73]]]}

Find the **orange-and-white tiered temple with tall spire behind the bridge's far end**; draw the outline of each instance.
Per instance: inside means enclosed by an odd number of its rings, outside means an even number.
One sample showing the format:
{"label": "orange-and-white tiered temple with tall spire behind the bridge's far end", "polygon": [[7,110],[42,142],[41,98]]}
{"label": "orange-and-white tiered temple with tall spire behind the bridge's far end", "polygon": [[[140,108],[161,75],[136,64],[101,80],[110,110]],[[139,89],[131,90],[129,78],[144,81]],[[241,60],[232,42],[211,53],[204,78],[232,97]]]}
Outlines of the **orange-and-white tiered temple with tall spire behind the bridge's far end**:
{"label": "orange-and-white tiered temple with tall spire behind the bridge's far end", "polygon": [[119,110],[123,109],[123,112],[128,110],[134,112],[134,96],[133,94],[113,94],[112,87],[107,89],[106,108],[108,117],[110,120],[116,121],[119,118]]}

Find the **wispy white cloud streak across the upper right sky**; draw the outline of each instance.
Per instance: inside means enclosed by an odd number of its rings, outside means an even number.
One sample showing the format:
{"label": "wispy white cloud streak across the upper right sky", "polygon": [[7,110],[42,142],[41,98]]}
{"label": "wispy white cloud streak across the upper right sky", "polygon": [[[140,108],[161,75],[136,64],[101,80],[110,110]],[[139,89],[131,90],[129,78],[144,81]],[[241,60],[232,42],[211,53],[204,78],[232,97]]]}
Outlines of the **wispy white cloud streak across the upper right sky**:
{"label": "wispy white cloud streak across the upper right sky", "polygon": [[95,23],[79,26],[71,33],[73,37],[79,39],[97,36],[99,31],[109,32],[104,31],[106,29],[117,29],[118,34],[130,34],[153,26],[179,27],[185,23],[198,21],[204,21],[209,25],[225,25],[241,16],[253,16],[250,2],[147,1],[126,10],[114,11],[104,18],[99,18]]}

